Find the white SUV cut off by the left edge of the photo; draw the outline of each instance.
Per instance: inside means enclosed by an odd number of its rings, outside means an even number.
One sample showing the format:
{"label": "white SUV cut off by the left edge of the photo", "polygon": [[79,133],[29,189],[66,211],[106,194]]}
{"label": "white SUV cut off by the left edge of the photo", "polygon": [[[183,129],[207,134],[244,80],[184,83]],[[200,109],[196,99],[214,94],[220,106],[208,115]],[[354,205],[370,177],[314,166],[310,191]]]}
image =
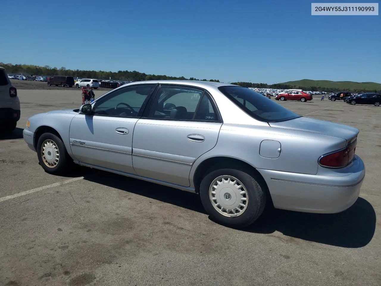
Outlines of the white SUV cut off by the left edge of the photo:
{"label": "white SUV cut off by the left edge of the photo", "polygon": [[20,101],[5,68],[0,66],[0,132],[12,132],[20,119]]}

